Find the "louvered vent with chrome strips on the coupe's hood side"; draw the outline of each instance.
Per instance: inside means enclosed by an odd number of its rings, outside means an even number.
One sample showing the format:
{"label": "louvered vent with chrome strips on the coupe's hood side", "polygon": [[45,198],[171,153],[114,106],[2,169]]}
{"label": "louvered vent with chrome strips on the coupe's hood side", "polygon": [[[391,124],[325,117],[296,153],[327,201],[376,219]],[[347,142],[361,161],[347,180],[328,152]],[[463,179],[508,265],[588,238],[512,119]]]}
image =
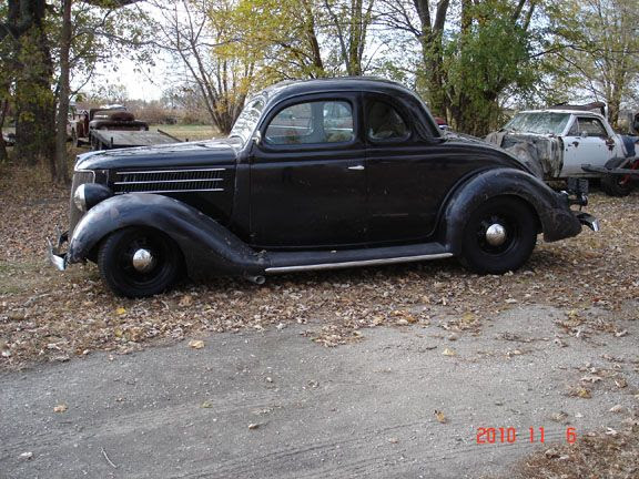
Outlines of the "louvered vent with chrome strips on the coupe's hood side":
{"label": "louvered vent with chrome strips on the coupe's hood side", "polygon": [[115,194],[221,192],[224,169],[116,172]]}

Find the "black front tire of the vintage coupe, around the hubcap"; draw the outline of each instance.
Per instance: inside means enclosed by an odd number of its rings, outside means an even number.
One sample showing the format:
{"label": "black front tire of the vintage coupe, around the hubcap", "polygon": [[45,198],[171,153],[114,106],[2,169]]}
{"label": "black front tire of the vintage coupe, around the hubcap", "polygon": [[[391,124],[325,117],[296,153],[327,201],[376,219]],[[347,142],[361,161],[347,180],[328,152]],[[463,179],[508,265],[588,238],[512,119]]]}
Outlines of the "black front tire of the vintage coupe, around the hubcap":
{"label": "black front tire of the vintage coupe, around the hubcap", "polygon": [[[151,252],[151,269],[133,266],[133,254]],[[146,297],[169,289],[183,268],[182,252],[165,234],[148,227],[126,227],[111,233],[100,245],[98,266],[102,279],[118,296]]]}

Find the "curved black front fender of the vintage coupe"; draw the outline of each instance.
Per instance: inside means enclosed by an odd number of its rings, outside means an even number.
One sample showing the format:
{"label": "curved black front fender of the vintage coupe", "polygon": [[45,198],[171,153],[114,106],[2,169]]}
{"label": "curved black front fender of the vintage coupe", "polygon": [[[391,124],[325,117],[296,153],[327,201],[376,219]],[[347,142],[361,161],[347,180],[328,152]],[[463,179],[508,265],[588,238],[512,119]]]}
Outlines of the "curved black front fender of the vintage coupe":
{"label": "curved black front fender of the vintage coupe", "polygon": [[168,196],[129,193],[99,203],[82,217],[69,241],[67,263],[87,259],[110,233],[148,226],[181,248],[190,274],[257,275],[267,267],[254,249],[202,212]]}

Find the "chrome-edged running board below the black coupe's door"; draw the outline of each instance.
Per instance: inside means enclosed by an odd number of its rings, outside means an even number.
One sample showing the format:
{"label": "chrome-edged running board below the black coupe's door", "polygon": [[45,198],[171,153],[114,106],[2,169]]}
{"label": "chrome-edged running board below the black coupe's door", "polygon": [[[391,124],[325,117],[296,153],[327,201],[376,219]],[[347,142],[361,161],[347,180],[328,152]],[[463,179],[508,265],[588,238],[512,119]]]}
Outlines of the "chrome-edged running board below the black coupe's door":
{"label": "chrome-edged running board below the black coupe's door", "polygon": [[318,269],[339,269],[357,266],[379,266],[428,259],[444,259],[453,253],[438,243],[332,252],[270,253],[271,267],[266,274]]}

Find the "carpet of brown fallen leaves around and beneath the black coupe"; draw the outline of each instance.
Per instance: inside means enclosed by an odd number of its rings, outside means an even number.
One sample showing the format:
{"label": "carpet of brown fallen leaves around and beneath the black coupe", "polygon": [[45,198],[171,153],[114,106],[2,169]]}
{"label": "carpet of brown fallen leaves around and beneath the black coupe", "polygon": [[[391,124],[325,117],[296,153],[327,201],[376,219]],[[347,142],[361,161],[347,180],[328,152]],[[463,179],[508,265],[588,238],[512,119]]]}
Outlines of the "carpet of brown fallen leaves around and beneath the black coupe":
{"label": "carpet of brown fallen leaves around and beneath the black coupe", "polygon": [[[616,320],[598,323],[587,310],[595,306],[619,312],[636,297],[635,206],[637,194],[622,201],[591,194],[589,211],[604,224],[599,234],[540,243],[521,271],[504,276],[478,276],[455,262],[437,262],[281,276],[257,289],[244,281],[216,278],[153,298],[123,300],[105,289],[94,265],[74,265],[60,275],[41,262],[43,235],[68,222],[68,191],[51,187],[45,175],[32,170],[4,166],[0,367],[67,360],[84,351],[128,353],[201,332],[282,330],[308,322],[320,326],[305,335],[326,347],[358,342],[366,328],[385,325],[433,324],[454,340],[480,332],[487,318],[504,309],[532,302],[567,312],[557,322],[564,337],[585,339],[604,332],[622,339],[627,332]],[[582,258],[588,258],[587,268]],[[565,347],[567,342],[557,338],[555,344]]]}

